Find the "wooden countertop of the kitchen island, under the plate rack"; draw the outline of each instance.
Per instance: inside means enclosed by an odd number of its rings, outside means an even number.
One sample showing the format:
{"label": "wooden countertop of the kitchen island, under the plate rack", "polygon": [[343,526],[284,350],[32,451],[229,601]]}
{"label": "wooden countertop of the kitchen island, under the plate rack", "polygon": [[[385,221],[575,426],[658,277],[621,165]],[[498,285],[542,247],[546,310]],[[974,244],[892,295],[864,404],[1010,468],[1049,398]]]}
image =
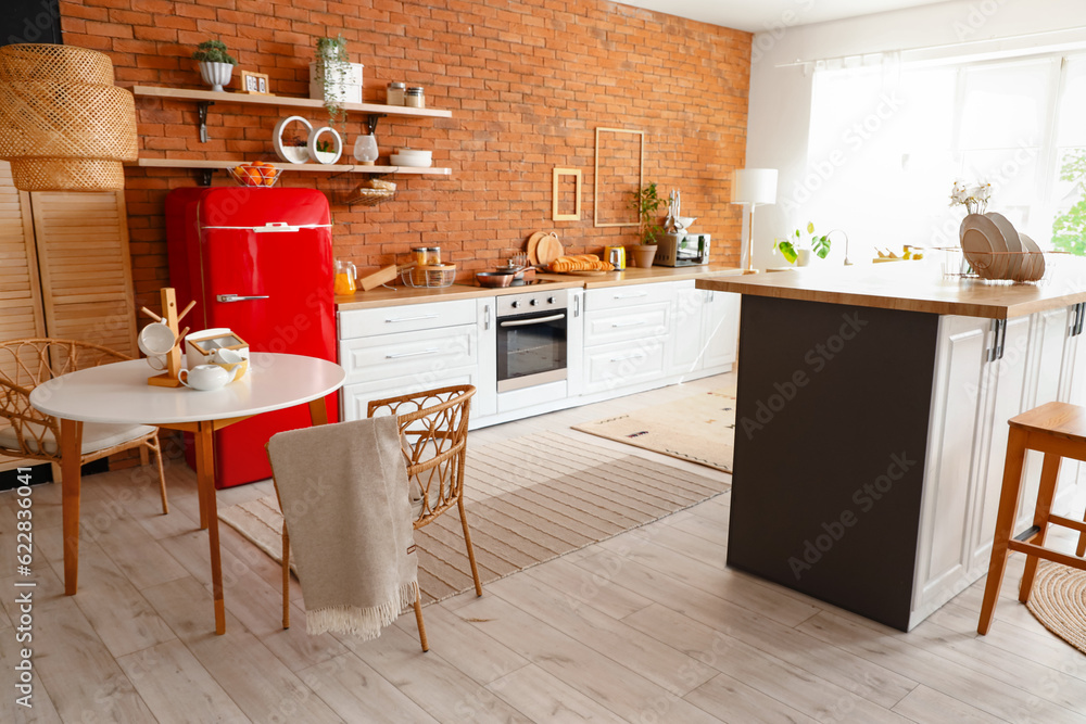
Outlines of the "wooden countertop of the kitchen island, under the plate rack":
{"label": "wooden countertop of the kitchen island, under the plate rack", "polygon": [[939,315],[1009,319],[1086,302],[1086,259],[1046,255],[1034,283],[944,278],[937,264],[877,264],[700,279],[698,289]]}

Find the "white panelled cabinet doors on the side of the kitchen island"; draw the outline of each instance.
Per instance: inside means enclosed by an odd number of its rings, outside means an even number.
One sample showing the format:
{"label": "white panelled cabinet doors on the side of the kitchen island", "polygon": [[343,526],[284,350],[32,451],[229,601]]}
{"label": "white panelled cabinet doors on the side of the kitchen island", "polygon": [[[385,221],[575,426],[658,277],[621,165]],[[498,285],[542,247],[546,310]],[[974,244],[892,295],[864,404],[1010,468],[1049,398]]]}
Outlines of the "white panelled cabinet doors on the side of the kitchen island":
{"label": "white panelled cabinet doors on the side of the kitchen island", "polygon": [[[913,621],[987,571],[1007,420],[1046,402],[1074,402],[1075,393],[1083,394],[1078,388],[1086,386],[1086,373],[1076,374],[1082,335],[1072,333],[1073,317],[1073,310],[1057,309],[1007,320],[1001,345],[999,325],[990,319],[940,319]],[[997,346],[1001,351],[995,352]],[[1040,461],[1039,455],[1027,455],[1015,532],[1032,524]],[[1057,510],[1074,496],[1077,470],[1074,460],[1063,461]]]}

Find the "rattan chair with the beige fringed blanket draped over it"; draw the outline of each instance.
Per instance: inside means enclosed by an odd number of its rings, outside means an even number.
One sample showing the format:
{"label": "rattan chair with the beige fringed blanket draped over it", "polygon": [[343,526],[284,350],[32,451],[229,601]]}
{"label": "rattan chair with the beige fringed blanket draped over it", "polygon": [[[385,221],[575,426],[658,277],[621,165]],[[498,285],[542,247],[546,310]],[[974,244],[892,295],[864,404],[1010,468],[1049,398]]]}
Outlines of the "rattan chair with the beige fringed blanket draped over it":
{"label": "rattan chair with the beige fringed blanket draped over it", "polygon": [[[468,441],[468,415],[476,389],[470,384],[428,390],[369,403],[368,417],[395,415],[411,485],[413,525],[422,528],[454,505],[464,528],[464,544],[471,563],[476,595],[482,596],[471,533],[464,513],[464,460]],[[276,497],[279,491],[276,490]],[[282,503],[280,501],[280,509]],[[282,627],[290,627],[290,536],[282,526]],[[421,601],[415,599],[419,643],[429,650],[422,623]]]}

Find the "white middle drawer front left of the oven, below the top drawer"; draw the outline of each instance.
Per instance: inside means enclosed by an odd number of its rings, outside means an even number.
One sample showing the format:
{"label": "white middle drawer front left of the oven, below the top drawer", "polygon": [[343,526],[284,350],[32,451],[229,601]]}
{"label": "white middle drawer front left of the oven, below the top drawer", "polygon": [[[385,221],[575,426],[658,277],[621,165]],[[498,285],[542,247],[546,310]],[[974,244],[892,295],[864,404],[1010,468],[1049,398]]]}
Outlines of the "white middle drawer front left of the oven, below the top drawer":
{"label": "white middle drawer front left of the oven, below the top drawer", "polygon": [[479,331],[473,323],[340,342],[348,382],[434,374],[478,364]]}

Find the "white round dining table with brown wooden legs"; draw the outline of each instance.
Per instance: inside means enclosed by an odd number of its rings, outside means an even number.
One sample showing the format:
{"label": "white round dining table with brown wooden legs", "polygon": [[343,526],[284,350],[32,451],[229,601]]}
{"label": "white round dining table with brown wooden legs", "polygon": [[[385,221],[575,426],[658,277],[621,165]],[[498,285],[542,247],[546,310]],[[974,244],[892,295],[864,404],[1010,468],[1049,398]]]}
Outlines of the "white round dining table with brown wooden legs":
{"label": "white round dining table with brown wooden legs", "polygon": [[328,421],[325,396],[343,385],[336,363],[301,355],[253,352],[249,372],[212,391],[148,384],[153,371],[144,359],[70,372],[38,385],[30,404],[61,421],[61,486],[64,535],[64,589],[74,595],[79,574],[79,450],[84,422],[152,424],[194,434],[200,528],[207,529],[215,631],[226,632],[223,571],[218,544],[212,435],[235,422],[308,403],[313,424]]}

